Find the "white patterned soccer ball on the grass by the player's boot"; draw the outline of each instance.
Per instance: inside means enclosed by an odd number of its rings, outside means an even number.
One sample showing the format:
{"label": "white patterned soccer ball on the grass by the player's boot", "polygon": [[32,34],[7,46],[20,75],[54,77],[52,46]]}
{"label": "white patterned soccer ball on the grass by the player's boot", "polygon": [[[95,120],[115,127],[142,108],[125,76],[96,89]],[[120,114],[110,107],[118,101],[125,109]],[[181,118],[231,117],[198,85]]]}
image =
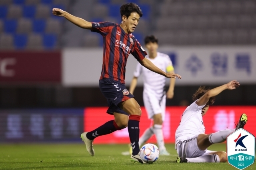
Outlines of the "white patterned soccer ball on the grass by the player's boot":
{"label": "white patterned soccer ball on the grass by the player's boot", "polygon": [[156,145],[148,143],[142,146],[139,154],[144,162],[152,164],[159,158],[159,149]]}

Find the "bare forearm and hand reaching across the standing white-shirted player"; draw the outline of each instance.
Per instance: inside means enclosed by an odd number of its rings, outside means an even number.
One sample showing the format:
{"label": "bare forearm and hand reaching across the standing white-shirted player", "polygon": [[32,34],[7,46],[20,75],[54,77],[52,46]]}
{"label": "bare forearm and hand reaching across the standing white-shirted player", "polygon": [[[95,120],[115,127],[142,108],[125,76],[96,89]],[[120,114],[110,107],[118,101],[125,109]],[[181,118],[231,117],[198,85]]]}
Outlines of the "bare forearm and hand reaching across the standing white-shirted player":
{"label": "bare forearm and hand reaching across the standing white-shirted player", "polygon": [[167,78],[176,78],[178,77],[178,79],[181,79],[181,76],[178,74],[174,74],[174,73],[166,73],[164,71],[162,71],[160,68],[156,67],[151,61],[149,61],[149,59],[144,58],[141,61],[139,61],[140,64],[144,67],[146,67],[147,69],[149,69],[150,71],[153,71],[155,73],[158,73],[160,75],[163,75],[164,77]]}

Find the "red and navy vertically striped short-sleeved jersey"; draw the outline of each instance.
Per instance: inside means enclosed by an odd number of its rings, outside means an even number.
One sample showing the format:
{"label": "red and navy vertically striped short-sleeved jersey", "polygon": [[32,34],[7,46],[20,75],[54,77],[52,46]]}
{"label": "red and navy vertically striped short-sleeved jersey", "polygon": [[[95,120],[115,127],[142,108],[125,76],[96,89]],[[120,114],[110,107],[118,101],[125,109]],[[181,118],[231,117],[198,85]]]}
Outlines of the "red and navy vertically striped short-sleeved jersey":
{"label": "red and navy vertically striped short-sleeved jersey", "polygon": [[100,79],[111,78],[125,83],[125,66],[131,53],[138,61],[144,59],[146,51],[132,34],[126,34],[119,24],[92,22],[92,32],[103,37],[103,64]]}

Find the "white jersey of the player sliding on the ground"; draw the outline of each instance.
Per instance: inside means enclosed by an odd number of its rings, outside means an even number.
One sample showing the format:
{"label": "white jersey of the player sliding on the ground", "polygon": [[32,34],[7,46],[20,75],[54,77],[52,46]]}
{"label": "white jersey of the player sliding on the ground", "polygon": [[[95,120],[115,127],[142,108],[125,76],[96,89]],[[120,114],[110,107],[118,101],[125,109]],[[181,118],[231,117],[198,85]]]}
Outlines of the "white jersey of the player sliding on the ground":
{"label": "white jersey of the player sliding on the ground", "polygon": [[204,122],[202,119],[202,108],[196,101],[186,108],[182,114],[180,125],[175,132],[175,145],[181,140],[186,140],[198,134],[205,133]]}

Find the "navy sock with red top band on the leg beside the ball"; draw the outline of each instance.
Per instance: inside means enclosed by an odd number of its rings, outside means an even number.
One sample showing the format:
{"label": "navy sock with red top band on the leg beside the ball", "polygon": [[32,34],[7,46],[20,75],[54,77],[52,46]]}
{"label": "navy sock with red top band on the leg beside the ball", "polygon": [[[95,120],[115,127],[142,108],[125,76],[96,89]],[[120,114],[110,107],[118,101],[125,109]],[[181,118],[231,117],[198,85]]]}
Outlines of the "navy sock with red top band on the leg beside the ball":
{"label": "navy sock with red top band on the leg beside the ball", "polygon": [[130,115],[128,121],[128,132],[130,137],[130,142],[132,145],[132,155],[137,155],[140,152],[139,147],[139,137],[140,137],[140,116]]}

